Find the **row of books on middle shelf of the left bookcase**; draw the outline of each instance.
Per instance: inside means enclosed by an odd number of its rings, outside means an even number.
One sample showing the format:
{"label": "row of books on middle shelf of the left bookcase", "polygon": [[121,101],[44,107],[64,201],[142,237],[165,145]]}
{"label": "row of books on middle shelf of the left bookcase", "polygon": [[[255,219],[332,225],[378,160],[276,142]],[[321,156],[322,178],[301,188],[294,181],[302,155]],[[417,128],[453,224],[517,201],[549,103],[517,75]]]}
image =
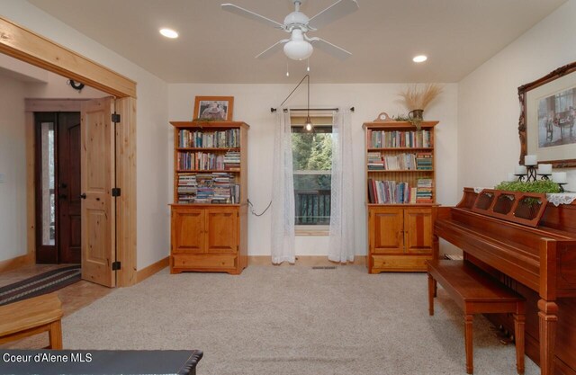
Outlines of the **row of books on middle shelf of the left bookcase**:
{"label": "row of books on middle shelf of the left bookcase", "polygon": [[229,151],[225,155],[206,152],[178,152],[178,170],[239,170],[240,153]]}

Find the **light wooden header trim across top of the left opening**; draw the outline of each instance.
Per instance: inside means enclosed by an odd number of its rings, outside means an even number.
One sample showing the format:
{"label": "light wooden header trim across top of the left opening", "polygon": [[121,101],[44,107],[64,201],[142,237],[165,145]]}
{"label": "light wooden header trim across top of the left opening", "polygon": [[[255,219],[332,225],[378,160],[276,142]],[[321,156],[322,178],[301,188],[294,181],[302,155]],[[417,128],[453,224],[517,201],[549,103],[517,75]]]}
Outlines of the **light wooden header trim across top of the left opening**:
{"label": "light wooden header trim across top of the left opening", "polygon": [[136,97],[136,82],[0,17],[0,52],[116,97]]}

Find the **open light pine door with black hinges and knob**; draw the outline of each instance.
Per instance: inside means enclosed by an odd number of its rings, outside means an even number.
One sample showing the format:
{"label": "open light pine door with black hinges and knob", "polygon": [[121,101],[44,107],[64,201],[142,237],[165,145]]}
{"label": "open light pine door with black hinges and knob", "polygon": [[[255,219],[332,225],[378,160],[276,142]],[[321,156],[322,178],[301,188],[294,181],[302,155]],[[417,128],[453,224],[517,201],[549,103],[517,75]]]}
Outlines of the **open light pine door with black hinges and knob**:
{"label": "open light pine door with black hinges and knob", "polygon": [[82,278],[108,287],[116,284],[112,124],[113,99],[82,103]]}

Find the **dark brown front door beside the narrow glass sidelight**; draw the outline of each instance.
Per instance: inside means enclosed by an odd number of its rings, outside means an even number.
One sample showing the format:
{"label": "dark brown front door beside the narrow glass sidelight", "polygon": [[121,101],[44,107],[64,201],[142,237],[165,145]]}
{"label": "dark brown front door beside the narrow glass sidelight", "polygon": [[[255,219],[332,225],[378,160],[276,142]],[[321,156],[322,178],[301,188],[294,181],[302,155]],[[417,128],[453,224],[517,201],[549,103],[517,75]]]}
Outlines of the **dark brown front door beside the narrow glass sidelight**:
{"label": "dark brown front door beside the narrow glass sidelight", "polygon": [[80,263],[80,113],[58,113],[58,263]]}

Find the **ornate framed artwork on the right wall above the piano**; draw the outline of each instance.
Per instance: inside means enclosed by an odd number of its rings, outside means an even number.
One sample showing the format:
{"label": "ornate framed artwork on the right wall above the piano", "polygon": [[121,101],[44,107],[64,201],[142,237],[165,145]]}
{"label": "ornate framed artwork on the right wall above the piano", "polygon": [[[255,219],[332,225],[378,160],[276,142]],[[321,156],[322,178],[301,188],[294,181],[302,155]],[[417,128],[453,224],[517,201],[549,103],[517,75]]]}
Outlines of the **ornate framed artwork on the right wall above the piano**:
{"label": "ornate framed artwork on the right wall above the piano", "polygon": [[576,62],[518,87],[520,163],[536,155],[554,168],[576,166]]}

